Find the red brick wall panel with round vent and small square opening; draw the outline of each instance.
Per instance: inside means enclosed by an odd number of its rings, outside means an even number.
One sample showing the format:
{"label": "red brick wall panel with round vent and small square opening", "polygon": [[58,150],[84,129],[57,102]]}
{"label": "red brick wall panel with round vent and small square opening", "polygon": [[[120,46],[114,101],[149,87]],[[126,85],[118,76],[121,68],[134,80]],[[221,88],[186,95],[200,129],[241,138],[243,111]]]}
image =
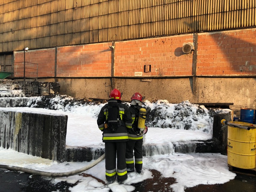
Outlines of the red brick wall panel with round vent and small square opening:
{"label": "red brick wall panel with round vent and small square opening", "polygon": [[[187,76],[192,74],[192,54],[182,46],[193,43],[193,35],[178,35],[115,43],[115,76]],[[151,65],[151,72],[144,72]]]}

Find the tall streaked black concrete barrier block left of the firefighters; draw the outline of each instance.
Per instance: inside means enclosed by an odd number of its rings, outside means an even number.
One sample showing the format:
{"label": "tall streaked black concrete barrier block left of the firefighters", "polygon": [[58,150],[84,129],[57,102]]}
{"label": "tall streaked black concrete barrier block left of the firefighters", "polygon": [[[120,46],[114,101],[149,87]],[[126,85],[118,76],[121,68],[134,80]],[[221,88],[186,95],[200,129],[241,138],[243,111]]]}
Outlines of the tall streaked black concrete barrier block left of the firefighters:
{"label": "tall streaked black concrete barrier block left of the firefighters", "polygon": [[0,108],[0,147],[63,162],[67,122],[67,115]]}

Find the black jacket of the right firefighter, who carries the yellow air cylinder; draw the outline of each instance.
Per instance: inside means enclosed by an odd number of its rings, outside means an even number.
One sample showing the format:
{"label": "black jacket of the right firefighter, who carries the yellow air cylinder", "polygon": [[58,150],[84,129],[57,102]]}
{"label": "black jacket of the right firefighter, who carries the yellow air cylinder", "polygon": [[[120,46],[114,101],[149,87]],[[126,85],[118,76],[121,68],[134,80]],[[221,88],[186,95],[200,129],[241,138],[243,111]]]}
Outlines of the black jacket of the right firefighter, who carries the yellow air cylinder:
{"label": "black jacket of the right firefighter, who carries the yellow air cylinder", "polygon": [[138,134],[140,131],[138,130],[138,119],[139,119],[139,110],[140,108],[142,108],[142,106],[139,105],[131,105],[129,107],[130,113],[131,113],[131,117],[133,119],[133,123],[132,123],[132,131],[130,131],[128,133],[128,139],[130,140],[141,140],[143,139],[143,135],[142,134]]}

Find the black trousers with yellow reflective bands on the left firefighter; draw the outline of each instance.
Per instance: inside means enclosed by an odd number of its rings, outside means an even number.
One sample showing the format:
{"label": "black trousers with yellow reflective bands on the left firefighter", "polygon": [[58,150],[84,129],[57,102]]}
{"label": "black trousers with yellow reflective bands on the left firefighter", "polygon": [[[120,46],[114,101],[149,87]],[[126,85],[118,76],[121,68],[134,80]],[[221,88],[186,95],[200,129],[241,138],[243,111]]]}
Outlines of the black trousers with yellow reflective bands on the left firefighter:
{"label": "black trousers with yellow reflective bands on the left firefighter", "polygon": [[125,149],[126,142],[105,142],[105,168],[108,183],[113,183],[116,177],[119,183],[127,179]]}

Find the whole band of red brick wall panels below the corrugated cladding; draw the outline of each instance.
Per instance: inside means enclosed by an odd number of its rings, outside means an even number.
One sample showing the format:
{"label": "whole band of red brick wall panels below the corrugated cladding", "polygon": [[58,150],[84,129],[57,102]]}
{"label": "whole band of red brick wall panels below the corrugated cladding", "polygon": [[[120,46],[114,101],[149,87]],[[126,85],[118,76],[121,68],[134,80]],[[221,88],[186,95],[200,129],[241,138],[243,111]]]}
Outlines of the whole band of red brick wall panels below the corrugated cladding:
{"label": "whole band of red brick wall panels below the corrugated cladding", "polygon": [[[256,29],[199,33],[197,75],[256,75]],[[193,35],[115,42],[114,76],[191,76],[193,52],[182,46]],[[57,77],[110,77],[111,49],[108,43],[57,48]],[[26,62],[38,63],[38,77],[54,77],[55,48],[29,50]],[[23,77],[23,51],[14,53],[15,76]],[[151,72],[144,72],[151,65]],[[26,72],[29,72],[27,69]],[[26,73],[29,77],[29,73]]]}

